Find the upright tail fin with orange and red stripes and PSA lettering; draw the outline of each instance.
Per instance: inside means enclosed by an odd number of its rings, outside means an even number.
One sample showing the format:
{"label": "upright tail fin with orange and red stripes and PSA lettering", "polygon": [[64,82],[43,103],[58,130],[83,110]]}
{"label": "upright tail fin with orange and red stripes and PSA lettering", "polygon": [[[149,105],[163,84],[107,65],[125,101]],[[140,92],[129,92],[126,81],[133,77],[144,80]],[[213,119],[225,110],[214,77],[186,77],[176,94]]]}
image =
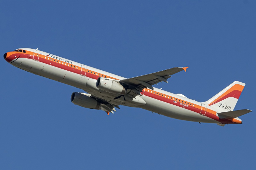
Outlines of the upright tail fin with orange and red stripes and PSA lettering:
{"label": "upright tail fin with orange and red stripes and PSA lettering", "polygon": [[220,91],[220,93],[203,103],[208,106],[212,106],[221,112],[233,111],[244,86],[244,83],[234,81],[228,87]]}

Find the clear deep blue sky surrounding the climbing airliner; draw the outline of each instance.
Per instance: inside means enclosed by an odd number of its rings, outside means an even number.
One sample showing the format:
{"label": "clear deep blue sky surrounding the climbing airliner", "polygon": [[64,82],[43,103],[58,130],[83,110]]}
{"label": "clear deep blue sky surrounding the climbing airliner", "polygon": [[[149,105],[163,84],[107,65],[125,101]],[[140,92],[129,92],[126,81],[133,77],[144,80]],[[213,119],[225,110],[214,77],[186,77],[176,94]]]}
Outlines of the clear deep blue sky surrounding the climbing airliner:
{"label": "clear deep blue sky surrounding the climbing airliner", "polygon": [[253,169],[256,2],[3,1],[0,52],[38,48],[123,77],[189,67],[155,87],[204,102],[246,83],[242,125],[198,124],[70,102],[81,89],[3,58],[0,169]]}

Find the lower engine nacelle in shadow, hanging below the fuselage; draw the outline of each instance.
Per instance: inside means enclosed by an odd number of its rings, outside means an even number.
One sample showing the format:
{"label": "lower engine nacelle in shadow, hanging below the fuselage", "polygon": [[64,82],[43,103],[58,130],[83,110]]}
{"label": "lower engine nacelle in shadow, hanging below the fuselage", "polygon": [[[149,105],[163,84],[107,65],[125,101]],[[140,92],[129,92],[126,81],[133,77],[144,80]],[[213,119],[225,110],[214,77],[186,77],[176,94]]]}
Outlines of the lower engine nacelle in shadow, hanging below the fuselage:
{"label": "lower engine nacelle in shadow, hanging below the fuselage", "polygon": [[89,109],[100,109],[101,103],[90,97],[90,94],[73,92],[71,95],[71,102]]}

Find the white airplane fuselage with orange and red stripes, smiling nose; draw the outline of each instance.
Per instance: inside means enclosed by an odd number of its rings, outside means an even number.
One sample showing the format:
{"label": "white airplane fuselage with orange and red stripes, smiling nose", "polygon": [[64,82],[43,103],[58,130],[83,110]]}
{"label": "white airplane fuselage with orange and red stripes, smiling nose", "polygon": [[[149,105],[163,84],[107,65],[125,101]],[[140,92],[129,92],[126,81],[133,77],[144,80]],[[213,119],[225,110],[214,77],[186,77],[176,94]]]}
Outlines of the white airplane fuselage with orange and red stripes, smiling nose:
{"label": "white airplane fuselage with orange and red stripes, smiling nose", "polygon": [[220,118],[218,113],[221,110],[157,88],[143,89],[141,96],[128,98],[128,100],[116,99],[119,95],[98,89],[96,81],[99,77],[113,80],[122,80],[125,79],[124,77],[43,51],[30,48],[19,48],[19,50],[21,51],[6,53],[5,60],[30,73],[83,89],[92,96],[111,101],[115,105],[139,107],[167,117],[194,122],[242,123],[239,118]]}

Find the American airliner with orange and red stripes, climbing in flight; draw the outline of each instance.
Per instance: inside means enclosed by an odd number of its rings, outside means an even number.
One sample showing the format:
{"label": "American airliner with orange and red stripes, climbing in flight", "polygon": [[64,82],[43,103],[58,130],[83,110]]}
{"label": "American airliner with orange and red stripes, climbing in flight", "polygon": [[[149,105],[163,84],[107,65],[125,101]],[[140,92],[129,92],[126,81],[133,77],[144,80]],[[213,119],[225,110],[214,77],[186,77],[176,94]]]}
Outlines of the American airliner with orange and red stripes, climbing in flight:
{"label": "American airliner with orange and red stripes, climbing in flight", "polygon": [[171,75],[187,71],[188,67],[174,67],[163,71],[124,78],[97,68],[71,61],[57,55],[31,48],[18,48],[4,54],[4,59],[22,70],[37,74],[84,92],[73,92],[75,105],[114,113],[119,105],[138,107],[167,117],[199,123],[242,124],[238,118],[252,110],[235,110],[245,84],[234,81],[206,102],[188,99],[152,87],[168,82]]}

